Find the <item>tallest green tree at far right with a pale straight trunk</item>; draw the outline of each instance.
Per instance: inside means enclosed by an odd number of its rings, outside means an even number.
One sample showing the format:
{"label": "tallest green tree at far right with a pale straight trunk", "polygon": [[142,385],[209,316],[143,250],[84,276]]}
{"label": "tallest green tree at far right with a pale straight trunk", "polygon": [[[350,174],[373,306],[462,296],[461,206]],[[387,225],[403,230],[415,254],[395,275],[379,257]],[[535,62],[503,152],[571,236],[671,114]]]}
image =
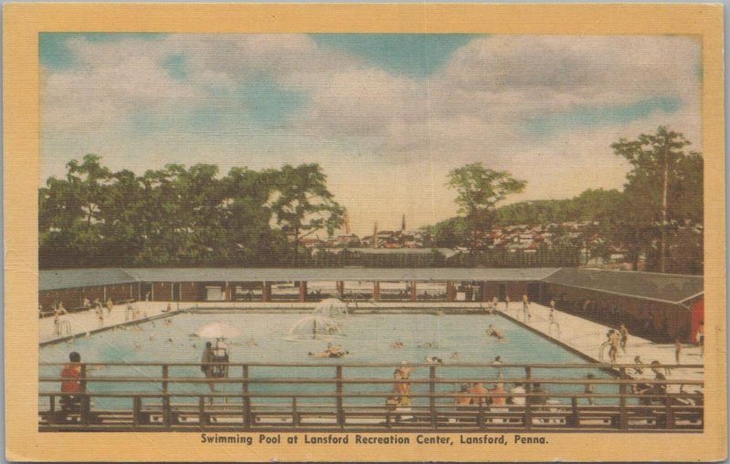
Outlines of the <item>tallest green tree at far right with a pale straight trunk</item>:
{"label": "tallest green tree at far right with a pale straight trunk", "polygon": [[[638,139],[620,139],[611,145],[617,156],[631,163],[625,193],[635,222],[631,227],[641,235],[655,226],[659,232],[658,270],[667,270],[667,234],[672,222],[702,222],[703,160],[700,153],[684,152],[691,142],[679,132],[664,126],[655,134],[641,134]],[[653,235],[653,236],[652,236]],[[651,234],[656,240],[656,235]],[[651,252],[652,243],[634,243]]]}

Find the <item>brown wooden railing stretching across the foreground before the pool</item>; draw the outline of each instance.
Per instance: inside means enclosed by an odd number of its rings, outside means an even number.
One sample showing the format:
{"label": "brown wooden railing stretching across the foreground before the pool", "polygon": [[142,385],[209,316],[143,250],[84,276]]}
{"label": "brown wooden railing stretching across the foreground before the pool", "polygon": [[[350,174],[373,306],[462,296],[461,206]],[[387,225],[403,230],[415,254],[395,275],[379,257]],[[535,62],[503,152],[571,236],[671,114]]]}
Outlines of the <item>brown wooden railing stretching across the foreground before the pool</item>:
{"label": "brown wooden railing stretching across the foreground before the pool", "polygon": [[[57,368],[59,372],[62,365],[41,366],[46,370]],[[103,366],[103,373],[91,371],[100,366]],[[233,387],[234,391],[206,391],[212,379],[202,376],[199,365],[184,363],[81,365],[79,382],[84,391],[70,401],[68,394],[57,389],[62,380],[60,376],[41,376],[39,429],[684,432],[702,431],[704,424],[704,400],[702,393],[698,393],[703,387],[701,380],[655,380],[629,375],[637,367],[652,372],[652,367],[656,366],[611,366],[615,369],[612,372],[618,375],[571,378],[565,375],[566,371],[580,369],[598,373],[609,366],[409,365],[416,370],[411,378],[400,380],[410,387],[406,395],[391,391],[389,386],[398,381],[385,370],[403,365],[251,363],[224,366],[228,367],[228,376],[215,378],[214,385],[229,390]],[[701,367],[661,366],[660,369],[678,372],[679,369]],[[137,376],[109,374],[121,368],[137,369],[140,373]],[[265,376],[271,369],[276,370],[276,376]],[[301,369],[312,370],[314,376],[297,376]],[[353,375],[362,369],[381,369],[383,374]],[[454,369],[474,370],[474,375],[455,375]],[[143,370],[160,374],[145,374],[141,372]],[[182,375],[173,376],[174,371]],[[550,374],[537,376],[537,371]],[[555,375],[558,371],[561,376]],[[487,386],[504,384],[506,392],[488,393],[485,397],[509,398],[509,403],[502,405],[500,400],[491,405],[481,402],[455,404],[457,399],[477,397],[474,393],[455,391],[460,385],[477,382]],[[516,383],[525,387],[524,393],[509,391]],[[534,386],[537,384],[544,390],[536,391]],[[604,391],[585,393],[588,385]],[[634,387],[639,385],[645,393],[634,392]],[[291,388],[282,389],[287,386]],[[686,393],[684,387],[696,391]],[[408,397],[410,404],[389,404],[393,397]]]}

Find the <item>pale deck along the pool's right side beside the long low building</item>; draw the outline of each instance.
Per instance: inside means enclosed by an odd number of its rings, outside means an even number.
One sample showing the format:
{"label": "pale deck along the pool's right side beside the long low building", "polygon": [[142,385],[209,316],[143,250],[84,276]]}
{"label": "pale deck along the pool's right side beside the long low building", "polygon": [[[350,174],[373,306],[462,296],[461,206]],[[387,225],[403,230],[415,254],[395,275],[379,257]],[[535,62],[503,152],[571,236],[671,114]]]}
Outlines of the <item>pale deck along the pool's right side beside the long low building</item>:
{"label": "pale deck along the pool's right side beside the long low building", "polygon": [[[547,306],[536,303],[530,304],[530,314],[532,317],[527,322],[523,320],[525,316],[522,311],[521,302],[511,303],[509,309],[506,311],[504,311],[505,305],[500,303],[497,309],[500,310],[499,312],[501,314],[515,321],[517,324],[525,325],[550,339],[557,340],[597,363],[609,363],[608,346],[603,349],[602,359],[600,347],[606,341],[606,333],[611,328],[607,325],[595,323],[577,315],[564,313],[556,309],[554,320],[558,323],[558,326],[553,325],[551,328],[549,320],[550,309]],[[662,365],[677,364],[674,358],[674,344],[658,344],[638,336],[629,335],[626,352],[619,350],[617,363],[634,364],[633,360],[635,356],[641,356],[641,361],[644,364],[650,364],[652,361],[659,361]],[[681,364],[703,364],[703,358],[700,356],[700,348],[695,345],[683,344],[680,361]],[[652,370],[643,369],[643,375],[634,377],[653,378]],[[667,378],[702,380],[704,378],[704,369],[673,369],[667,375]]]}

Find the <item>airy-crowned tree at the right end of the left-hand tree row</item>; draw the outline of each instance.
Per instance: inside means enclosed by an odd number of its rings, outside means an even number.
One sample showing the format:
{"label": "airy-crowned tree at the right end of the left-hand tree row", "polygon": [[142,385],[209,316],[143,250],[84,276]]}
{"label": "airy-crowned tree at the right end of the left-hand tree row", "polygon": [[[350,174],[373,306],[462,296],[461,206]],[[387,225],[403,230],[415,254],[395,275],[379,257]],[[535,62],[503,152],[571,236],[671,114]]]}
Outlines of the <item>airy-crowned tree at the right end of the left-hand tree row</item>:
{"label": "airy-crowned tree at the right end of the left-hand tree row", "polygon": [[316,163],[287,164],[265,175],[275,186],[269,205],[276,224],[292,239],[296,267],[301,239],[321,230],[331,236],[343,224],[345,209],[327,190],[327,176]]}

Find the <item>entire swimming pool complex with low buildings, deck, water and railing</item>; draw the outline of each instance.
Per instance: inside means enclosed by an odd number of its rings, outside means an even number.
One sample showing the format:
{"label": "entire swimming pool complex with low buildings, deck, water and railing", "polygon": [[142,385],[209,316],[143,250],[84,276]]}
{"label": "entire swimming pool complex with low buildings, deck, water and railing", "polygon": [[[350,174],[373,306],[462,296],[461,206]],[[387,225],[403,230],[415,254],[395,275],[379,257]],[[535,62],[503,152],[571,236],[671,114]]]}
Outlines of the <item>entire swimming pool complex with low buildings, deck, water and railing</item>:
{"label": "entire swimming pool complex with low buildings, deck, water and railing", "polygon": [[74,269],[38,299],[41,430],[704,427],[700,276]]}

